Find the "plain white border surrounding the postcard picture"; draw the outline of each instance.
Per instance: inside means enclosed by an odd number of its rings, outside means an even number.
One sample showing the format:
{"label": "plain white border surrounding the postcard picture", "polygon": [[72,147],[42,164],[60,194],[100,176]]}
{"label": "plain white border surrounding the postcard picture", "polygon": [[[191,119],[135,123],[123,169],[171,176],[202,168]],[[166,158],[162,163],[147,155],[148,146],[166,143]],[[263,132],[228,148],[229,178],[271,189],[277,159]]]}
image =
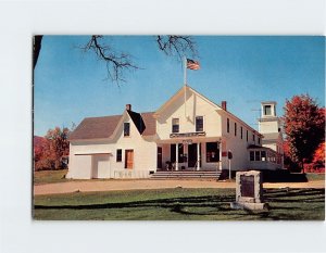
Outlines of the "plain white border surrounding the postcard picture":
{"label": "plain white border surrounding the postcard picture", "polygon": [[325,35],[325,14],[323,0],[0,1],[0,251],[326,252],[325,223],[33,222],[30,215],[32,35]]}

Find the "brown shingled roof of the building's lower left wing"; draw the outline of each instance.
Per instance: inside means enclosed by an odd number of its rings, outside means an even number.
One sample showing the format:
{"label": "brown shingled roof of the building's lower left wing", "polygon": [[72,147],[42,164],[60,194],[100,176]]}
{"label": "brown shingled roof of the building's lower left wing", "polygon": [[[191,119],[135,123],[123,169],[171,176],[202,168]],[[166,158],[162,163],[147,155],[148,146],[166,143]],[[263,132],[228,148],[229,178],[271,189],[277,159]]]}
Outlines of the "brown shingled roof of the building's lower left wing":
{"label": "brown shingled roof of the building's lower left wing", "polygon": [[[142,136],[154,135],[156,130],[155,119],[152,112],[139,114],[127,111],[138,131]],[[87,117],[70,135],[68,140],[106,139],[116,129],[123,115]]]}

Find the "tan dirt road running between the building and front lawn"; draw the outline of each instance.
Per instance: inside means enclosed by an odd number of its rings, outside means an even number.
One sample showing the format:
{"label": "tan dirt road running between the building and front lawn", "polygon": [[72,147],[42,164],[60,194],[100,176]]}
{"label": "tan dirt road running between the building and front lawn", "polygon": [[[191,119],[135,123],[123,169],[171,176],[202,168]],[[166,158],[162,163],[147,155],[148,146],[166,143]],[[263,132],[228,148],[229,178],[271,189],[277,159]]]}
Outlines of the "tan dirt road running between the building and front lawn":
{"label": "tan dirt road running between the building and front lawn", "polygon": [[[34,194],[68,193],[75,191],[115,191],[164,188],[235,188],[235,182],[215,180],[104,180],[104,181],[68,181],[34,186]],[[264,188],[325,188],[325,181],[310,182],[266,182]]]}

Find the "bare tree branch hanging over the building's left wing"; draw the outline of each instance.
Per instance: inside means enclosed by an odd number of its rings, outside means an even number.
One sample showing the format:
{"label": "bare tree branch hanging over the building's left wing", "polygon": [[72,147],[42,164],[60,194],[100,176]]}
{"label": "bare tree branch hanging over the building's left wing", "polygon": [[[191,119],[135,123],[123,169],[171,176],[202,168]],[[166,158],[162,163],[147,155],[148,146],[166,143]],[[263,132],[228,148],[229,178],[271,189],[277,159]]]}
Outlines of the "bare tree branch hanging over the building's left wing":
{"label": "bare tree branch hanging over the building's left wing", "polygon": [[82,49],[92,51],[99,60],[106,64],[108,78],[120,85],[120,81],[125,81],[124,71],[138,69],[139,67],[133,63],[131,55],[128,53],[117,53],[108,45],[102,43],[102,35],[92,35],[90,40]]}

